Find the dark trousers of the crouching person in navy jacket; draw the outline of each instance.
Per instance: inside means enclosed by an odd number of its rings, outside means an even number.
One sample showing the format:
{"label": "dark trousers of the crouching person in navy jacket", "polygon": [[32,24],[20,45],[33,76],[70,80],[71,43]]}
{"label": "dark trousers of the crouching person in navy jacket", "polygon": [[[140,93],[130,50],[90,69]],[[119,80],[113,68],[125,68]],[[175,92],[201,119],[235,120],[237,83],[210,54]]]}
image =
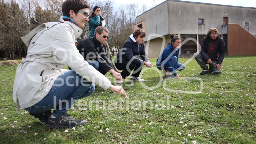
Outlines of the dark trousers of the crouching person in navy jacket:
{"label": "dark trousers of the crouching person in navy jacket", "polygon": [[[142,59],[143,61],[145,61],[145,56],[137,56],[138,59]],[[130,73],[132,72],[132,76],[134,77],[139,77],[140,72],[142,70],[142,67],[144,66],[144,62],[141,62],[141,64],[135,64],[133,62],[122,62],[122,63],[115,63],[116,64],[116,68],[118,70],[123,70],[121,72],[122,78],[126,79],[127,76],[130,75]]]}

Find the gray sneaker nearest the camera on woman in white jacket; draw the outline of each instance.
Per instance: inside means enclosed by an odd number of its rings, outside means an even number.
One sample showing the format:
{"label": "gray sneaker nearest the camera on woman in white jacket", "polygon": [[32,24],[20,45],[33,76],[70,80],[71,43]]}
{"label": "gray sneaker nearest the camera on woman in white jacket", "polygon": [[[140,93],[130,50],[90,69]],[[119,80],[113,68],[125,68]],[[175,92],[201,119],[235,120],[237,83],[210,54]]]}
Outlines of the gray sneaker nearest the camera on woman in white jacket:
{"label": "gray sneaker nearest the camera on woman in white jacket", "polygon": [[75,119],[69,116],[67,113],[63,113],[55,118],[48,118],[47,127],[51,129],[56,128],[72,128],[76,126],[83,126],[86,124],[86,120]]}

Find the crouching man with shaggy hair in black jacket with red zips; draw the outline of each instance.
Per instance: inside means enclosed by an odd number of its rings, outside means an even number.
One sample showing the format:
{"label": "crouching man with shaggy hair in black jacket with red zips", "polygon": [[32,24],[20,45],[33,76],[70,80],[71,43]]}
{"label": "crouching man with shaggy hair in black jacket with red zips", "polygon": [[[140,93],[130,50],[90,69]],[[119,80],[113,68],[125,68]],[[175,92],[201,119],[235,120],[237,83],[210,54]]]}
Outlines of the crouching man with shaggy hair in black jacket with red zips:
{"label": "crouching man with shaggy hair in black jacket with red zips", "polygon": [[[207,36],[203,38],[200,53],[194,54],[197,63],[203,69],[201,75],[210,72],[221,73],[221,64],[225,56],[225,43],[218,33],[219,31],[216,28],[210,28]],[[206,64],[209,64],[209,69]]]}

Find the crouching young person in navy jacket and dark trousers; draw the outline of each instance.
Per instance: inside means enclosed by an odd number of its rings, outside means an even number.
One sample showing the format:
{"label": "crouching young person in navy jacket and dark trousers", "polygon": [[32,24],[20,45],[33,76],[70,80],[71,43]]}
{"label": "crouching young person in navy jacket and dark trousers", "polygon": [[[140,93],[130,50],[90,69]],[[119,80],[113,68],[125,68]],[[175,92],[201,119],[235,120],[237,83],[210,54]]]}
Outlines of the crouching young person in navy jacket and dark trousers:
{"label": "crouching young person in navy jacket and dark trousers", "polygon": [[142,67],[144,65],[147,67],[153,66],[149,62],[145,52],[145,45],[143,43],[145,36],[146,32],[143,29],[136,29],[133,34],[127,38],[123,47],[117,54],[115,64],[117,69],[123,70],[121,72],[123,79],[127,78],[134,69],[130,80],[144,81],[139,77]]}

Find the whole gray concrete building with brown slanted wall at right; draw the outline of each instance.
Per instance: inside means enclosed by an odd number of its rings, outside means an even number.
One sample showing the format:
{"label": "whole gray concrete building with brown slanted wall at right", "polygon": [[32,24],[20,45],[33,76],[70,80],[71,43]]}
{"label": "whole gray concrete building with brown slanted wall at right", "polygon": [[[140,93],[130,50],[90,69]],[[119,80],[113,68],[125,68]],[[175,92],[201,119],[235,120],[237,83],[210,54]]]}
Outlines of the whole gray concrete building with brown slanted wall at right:
{"label": "whole gray concrete building with brown slanted wall at right", "polygon": [[256,8],[166,0],[137,16],[137,27],[147,32],[148,57],[158,57],[170,42],[170,34],[182,38],[180,56],[200,51],[209,28],[215,27],[224,39],[226,53],[256,55]]}

